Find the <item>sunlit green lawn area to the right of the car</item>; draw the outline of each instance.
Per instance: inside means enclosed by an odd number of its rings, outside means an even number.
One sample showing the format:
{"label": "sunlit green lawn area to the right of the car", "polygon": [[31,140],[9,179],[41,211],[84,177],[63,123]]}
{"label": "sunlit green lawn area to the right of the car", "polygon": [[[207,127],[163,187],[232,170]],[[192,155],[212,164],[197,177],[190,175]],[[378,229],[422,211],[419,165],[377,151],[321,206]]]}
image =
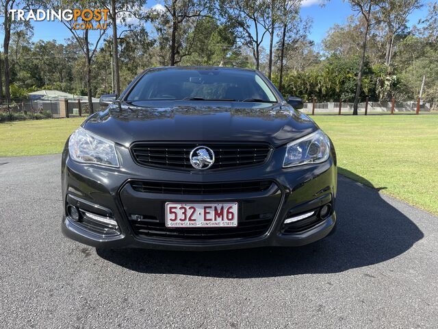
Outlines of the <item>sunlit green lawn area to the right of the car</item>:
{"label": "sunlit green lawn area to the right of the car", "polygon": [[313,119],[335,144],[339,173],[438,214],[438,115]]}

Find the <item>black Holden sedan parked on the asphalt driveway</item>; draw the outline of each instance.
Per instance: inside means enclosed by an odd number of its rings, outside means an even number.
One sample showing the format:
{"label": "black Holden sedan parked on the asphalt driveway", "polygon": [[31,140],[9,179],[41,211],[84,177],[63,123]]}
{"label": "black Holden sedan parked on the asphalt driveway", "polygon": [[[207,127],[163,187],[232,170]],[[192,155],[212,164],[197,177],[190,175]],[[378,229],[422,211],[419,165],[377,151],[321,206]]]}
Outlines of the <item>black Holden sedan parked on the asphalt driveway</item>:
{"label": "black Holden sedan parked on the asphalt driveway", "polygon": [[144,71],[68,138],[62,231],[94,247],[297,246],[335,226],[331,140],[258,71]]}

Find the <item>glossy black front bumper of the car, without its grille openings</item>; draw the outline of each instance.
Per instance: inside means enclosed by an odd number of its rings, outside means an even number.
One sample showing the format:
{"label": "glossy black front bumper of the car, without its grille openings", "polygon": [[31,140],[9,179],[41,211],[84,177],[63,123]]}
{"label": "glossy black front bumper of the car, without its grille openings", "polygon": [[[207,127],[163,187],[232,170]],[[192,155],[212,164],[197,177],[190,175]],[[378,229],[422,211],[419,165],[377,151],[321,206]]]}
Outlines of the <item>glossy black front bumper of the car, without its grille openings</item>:
{"label": "glossy black front bumper of the car, without its grille openings", "polygon": [[[64,216],[62,232],[68,238],[99,248],[144,247],[151,249],[214,250],[238,249],[263,246],[299,246],[324,238],[335,226],[335,197],[337,168],[335,154],[322,164],[309,164],[283,169],[282,152],[274,152],[270,162],[263,167],[234,171],[181,172],[139,167],[130,161],[127,149],[120,148],[120,158],[126,159],[122,169],[100,167],[94,164],[78,164],[68,157],[64,149],[62,158],[62,192]],[[277,154],[277,156],[276,156]],[[132,180],[166,182],[247,182],[269,180],[270,189],[260,193],[235,193],[226,195],[172,195],[139,193],[133,191]],[[154,215],[164,222],[166,202],[238,202],[239,221],[263,213],[268,217],[266,230],[257,236],[214,237],[192,239],[184,236],[157,236],[139,234],[130,219],[133,213]],[[66,207],[73,204],[85,212],[114,219],[116,230],[90,230],[90,226],[74,221]],[[324,219],[310,221],[300,230],[285,230],[286,218],[318,210],[331,204],[331,212]],[[67,215],[66,215],[67,214]],[[188,229],[191,230],[191,229]],[[206,230],[209,230],[208,228]],[[231,229],[232,230],[232,229]]]}

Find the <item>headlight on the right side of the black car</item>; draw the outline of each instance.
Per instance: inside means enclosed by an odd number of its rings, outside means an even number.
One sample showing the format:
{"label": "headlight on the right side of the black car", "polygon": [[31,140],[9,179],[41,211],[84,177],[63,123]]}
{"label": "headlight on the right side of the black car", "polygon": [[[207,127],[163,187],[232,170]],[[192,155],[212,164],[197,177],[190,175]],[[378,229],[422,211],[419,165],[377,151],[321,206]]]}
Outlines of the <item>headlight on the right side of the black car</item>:
{"label": "headlight on the right side of the black car", "polygon": [[287,144],[283,167],[295,167],[307,163],[320,163],[330,156],[330,140],[324,132],[317,130]]}

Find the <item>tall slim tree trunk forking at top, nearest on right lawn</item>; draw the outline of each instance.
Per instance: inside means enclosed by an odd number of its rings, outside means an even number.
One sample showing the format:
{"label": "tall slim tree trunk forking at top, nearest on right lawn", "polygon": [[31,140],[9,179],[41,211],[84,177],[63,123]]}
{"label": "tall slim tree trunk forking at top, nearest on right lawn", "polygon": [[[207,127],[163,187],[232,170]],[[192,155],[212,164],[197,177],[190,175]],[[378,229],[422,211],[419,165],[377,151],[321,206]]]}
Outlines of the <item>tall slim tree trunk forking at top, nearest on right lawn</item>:
{"label": "tall slim tree trunk forking at top, nearest on right lawn", "polygon": [[372,6],[375,4],[373,0],[349,0],[352,6],[352,10],[355,10],[361,14],[365,24],[365,32],[363,32],[363,41],[361,46],[361,61],[359,62],[359,72],[357,73],[357,87],[356,87],[356,95],[355,102],[353,105],[353,115],[357,115],[357,108],[359,107],[359,97],[361,95],[362,90],[362,75],[363,75],[363,67],[365,63],[365,55],[367,51],[367,40],[368,40],[368,32],[370,30],[370,26],[372,25],[371,18],[371,10]]}

